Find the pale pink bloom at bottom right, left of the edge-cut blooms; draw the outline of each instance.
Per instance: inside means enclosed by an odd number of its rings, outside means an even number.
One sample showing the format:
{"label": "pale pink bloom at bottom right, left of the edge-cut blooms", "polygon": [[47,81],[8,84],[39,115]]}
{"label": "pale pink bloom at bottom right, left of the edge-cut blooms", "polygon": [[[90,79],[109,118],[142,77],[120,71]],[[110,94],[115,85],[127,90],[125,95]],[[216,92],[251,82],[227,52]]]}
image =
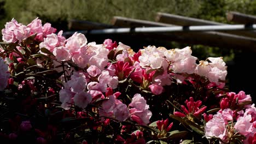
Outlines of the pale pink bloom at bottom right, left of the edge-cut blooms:
{"label": "pale pink bloom at bottom right, left of the edge-cut blooms", "polygon": [[225,125],[225,120],[222,114],[218,112],[205,125],[206,138],[210,139],[210,136],[215,136],[219,137],[219,139],[222,139],[225,142],[227,138],[227,130]]}

